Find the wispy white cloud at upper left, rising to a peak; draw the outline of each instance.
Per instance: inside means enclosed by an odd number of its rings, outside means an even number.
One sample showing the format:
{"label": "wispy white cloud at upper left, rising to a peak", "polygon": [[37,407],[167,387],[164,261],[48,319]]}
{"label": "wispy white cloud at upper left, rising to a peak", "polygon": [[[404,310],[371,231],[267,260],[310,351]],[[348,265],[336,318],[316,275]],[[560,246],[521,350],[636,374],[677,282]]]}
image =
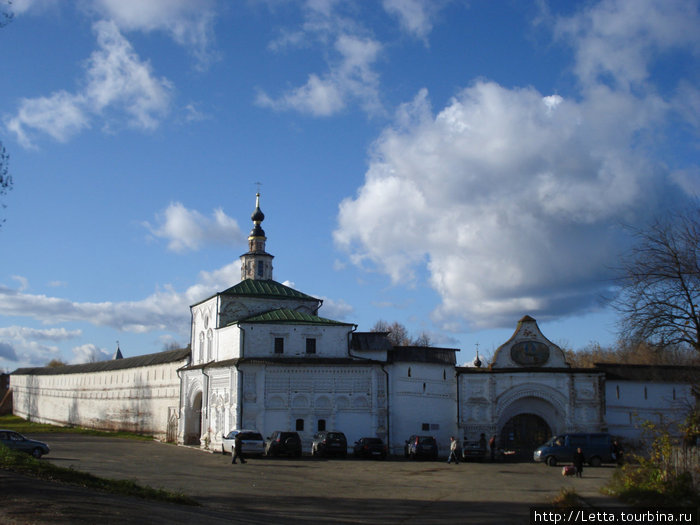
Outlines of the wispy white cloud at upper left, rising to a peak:
{"label": "wispy white cloud at upper left, rising to a peak", "polygon": [[152,130],[168,113],[170,82],[153,76],[116,24],[100,21],[93,28],[98,49],[86,62],[83,88],[22,99],[17,114],[5,117],[7,129],[24,147],[33,147],[37,134],[65,142],[95,122],[106,129]]}

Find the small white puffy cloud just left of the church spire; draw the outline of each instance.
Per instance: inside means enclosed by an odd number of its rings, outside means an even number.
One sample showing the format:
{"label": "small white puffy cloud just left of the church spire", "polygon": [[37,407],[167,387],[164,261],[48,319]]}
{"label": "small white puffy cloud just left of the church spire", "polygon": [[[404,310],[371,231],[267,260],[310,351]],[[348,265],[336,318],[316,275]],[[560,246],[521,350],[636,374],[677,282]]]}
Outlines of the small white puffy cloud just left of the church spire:
{"label": "small white puffy cloud just left of the church spire", "polygon": [[157,225],[144,225],[156,237],[168,240],[168,249],[182,253],[198,250],[206,243],[237,244],[244,241],[238,223],[221,208],[207,218],[196,210],[185,208],[181,203],[171,203],[156,217]]}

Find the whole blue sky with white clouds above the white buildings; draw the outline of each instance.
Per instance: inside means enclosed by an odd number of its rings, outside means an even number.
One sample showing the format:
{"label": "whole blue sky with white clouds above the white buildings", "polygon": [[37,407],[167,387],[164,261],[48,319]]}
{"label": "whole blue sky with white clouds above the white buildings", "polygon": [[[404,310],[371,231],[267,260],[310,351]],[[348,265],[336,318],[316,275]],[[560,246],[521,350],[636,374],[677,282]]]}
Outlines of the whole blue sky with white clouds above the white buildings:
{"label": "whole blue sky with white clouds above the white buildings", "polygon": [[697,1],[0,5],[0,369],[187,344],[257,182],[324,317],[610,344],[623,225],[700,194]]}

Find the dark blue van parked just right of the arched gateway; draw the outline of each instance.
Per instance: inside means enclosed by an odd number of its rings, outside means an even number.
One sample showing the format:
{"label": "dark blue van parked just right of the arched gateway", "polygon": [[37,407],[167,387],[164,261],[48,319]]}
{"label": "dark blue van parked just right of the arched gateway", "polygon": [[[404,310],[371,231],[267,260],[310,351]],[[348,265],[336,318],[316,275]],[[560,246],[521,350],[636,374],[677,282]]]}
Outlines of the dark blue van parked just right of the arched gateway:
{"label": "dark blue van parked just right of the arched gateway", "polygon": [[574,459],[574,452],[579,447],[586,463],[592,467],[599,467],[601,463],[616,462],[616,458],[612,455],[612,437],[605,432],[554,436],[535,450],[533,459],[544,461],[550,467],[561,462],[570,463]]}

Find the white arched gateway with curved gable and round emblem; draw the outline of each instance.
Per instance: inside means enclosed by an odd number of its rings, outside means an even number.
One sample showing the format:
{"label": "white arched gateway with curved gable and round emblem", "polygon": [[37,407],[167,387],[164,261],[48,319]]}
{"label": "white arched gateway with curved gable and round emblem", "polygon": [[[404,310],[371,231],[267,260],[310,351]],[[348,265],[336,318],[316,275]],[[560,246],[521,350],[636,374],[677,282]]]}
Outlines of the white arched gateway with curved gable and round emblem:
{"label": "white arched gateway with curved gable and round emblem", "polygon": [[459,372],[465,439],[496,436],[499,447],[527,458],[553,434],[603,425],[599,374],[571,369],[562,350],[529,316],[518,322],[488,369]]}

